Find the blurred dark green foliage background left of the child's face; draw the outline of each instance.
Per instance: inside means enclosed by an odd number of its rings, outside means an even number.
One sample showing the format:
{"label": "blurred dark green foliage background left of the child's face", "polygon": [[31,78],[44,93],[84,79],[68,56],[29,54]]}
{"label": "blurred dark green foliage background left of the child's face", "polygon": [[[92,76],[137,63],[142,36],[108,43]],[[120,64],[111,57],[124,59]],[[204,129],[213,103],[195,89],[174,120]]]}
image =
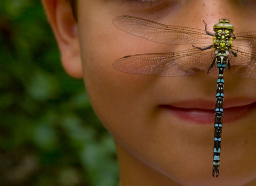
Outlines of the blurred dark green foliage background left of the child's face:
{"label": "blurred dark green foliage background left of the child's face", "polygon": [[0,185],[117,185],[113,139],[62,69],[41,1],[1,0],[0,29]]}

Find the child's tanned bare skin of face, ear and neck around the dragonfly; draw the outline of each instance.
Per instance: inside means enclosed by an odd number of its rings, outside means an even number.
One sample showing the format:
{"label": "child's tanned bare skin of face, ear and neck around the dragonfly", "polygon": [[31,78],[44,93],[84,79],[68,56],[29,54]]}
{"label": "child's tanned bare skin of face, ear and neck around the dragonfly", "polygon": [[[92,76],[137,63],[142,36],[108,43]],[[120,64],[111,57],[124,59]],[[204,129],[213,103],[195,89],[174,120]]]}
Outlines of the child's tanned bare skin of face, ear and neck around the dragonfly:
{"label": "child's tanned bare skin of face, ear and neck around the dragonfly", "polygon": [[[224,18],[238,33],[256,31],[256,2],[83,0],[78,1],[78,22],[67,1],[42,2],[65,70],[84,79],[95,112],[113,134],[121,172],[119,186],[256,185],[255,109],[223,126],[220,175],[215,178],[211,175],[213,122],[200,125],[159,107],[191,99],[214,105],[217,71],[165,78],[122,73],[112,67],[117,58],[126,55],[192,48],[130,35],[113,25],[116,16],[199,29],[204,29],[205,20],[209,31]],[[256,99],[256,81],[225,73],[225,100],[238,98]]]}

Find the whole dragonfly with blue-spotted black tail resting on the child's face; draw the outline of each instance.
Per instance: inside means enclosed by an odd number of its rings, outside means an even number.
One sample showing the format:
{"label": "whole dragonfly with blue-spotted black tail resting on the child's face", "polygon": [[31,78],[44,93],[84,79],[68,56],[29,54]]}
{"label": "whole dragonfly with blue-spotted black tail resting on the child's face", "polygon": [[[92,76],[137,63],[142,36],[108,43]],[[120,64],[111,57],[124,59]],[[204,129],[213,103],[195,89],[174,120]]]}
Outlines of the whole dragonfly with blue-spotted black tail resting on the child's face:
{"label": "whole dragonfly with blue-spotted black tail resting on the child's face", "polygon": [[[204,22],[205,23],[205,22]],[[214,147],[212,176],[218,177],[220,166],[221,132],[223,119],[223,72],[237,77],[256,80],[256,54],[237,46],[256,47],[256,32],[234,35],[234,26],[222,19],[205,29],[167,26],[130,15],[117,16],[113,24],[125,32],[155,43],[167,45],[192,44],[193,48],[171,53],[129,55],[119,58],[113,67],[121,72],[148,74],[161,77],[197,75],[219,70],[215,98]],[[194,44],[207,44],[203,47]]]}

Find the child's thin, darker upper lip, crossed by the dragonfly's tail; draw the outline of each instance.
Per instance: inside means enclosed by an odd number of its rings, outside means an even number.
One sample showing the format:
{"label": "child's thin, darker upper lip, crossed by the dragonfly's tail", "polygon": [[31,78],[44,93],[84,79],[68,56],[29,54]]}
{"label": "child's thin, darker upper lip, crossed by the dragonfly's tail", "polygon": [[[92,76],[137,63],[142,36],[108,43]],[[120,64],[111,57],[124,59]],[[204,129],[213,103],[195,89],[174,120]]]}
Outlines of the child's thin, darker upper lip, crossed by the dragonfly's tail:
{"label": "child's thin, darker upper lip, crossed by the dragonfly's tail", "polygon": [[[251,105],[254,102],[256,102],[256,99],[254,98],[225,98],[223,101],[223,108],[241,107]],[[178,108],[215,109],[215,102],[213,100],[205,99],[180,100],[163,105],[170,105]]]}

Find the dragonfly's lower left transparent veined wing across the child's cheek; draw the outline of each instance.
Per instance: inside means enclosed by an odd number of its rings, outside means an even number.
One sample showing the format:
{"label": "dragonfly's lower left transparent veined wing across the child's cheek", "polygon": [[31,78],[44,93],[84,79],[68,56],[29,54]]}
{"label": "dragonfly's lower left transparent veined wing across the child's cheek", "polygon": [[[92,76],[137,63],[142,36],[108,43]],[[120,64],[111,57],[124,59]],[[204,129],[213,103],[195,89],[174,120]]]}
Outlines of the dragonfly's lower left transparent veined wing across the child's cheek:
{"label": "dragonfly's lower left transparent veined wing across the child's cheek", "polygon": [[[116,60],[113,67],[121,72],[164,77],[204,74],[213,62],[213,51],[193,48],[173,53],[130,55]],[[213,66],[210,72],[215,69]]]}

